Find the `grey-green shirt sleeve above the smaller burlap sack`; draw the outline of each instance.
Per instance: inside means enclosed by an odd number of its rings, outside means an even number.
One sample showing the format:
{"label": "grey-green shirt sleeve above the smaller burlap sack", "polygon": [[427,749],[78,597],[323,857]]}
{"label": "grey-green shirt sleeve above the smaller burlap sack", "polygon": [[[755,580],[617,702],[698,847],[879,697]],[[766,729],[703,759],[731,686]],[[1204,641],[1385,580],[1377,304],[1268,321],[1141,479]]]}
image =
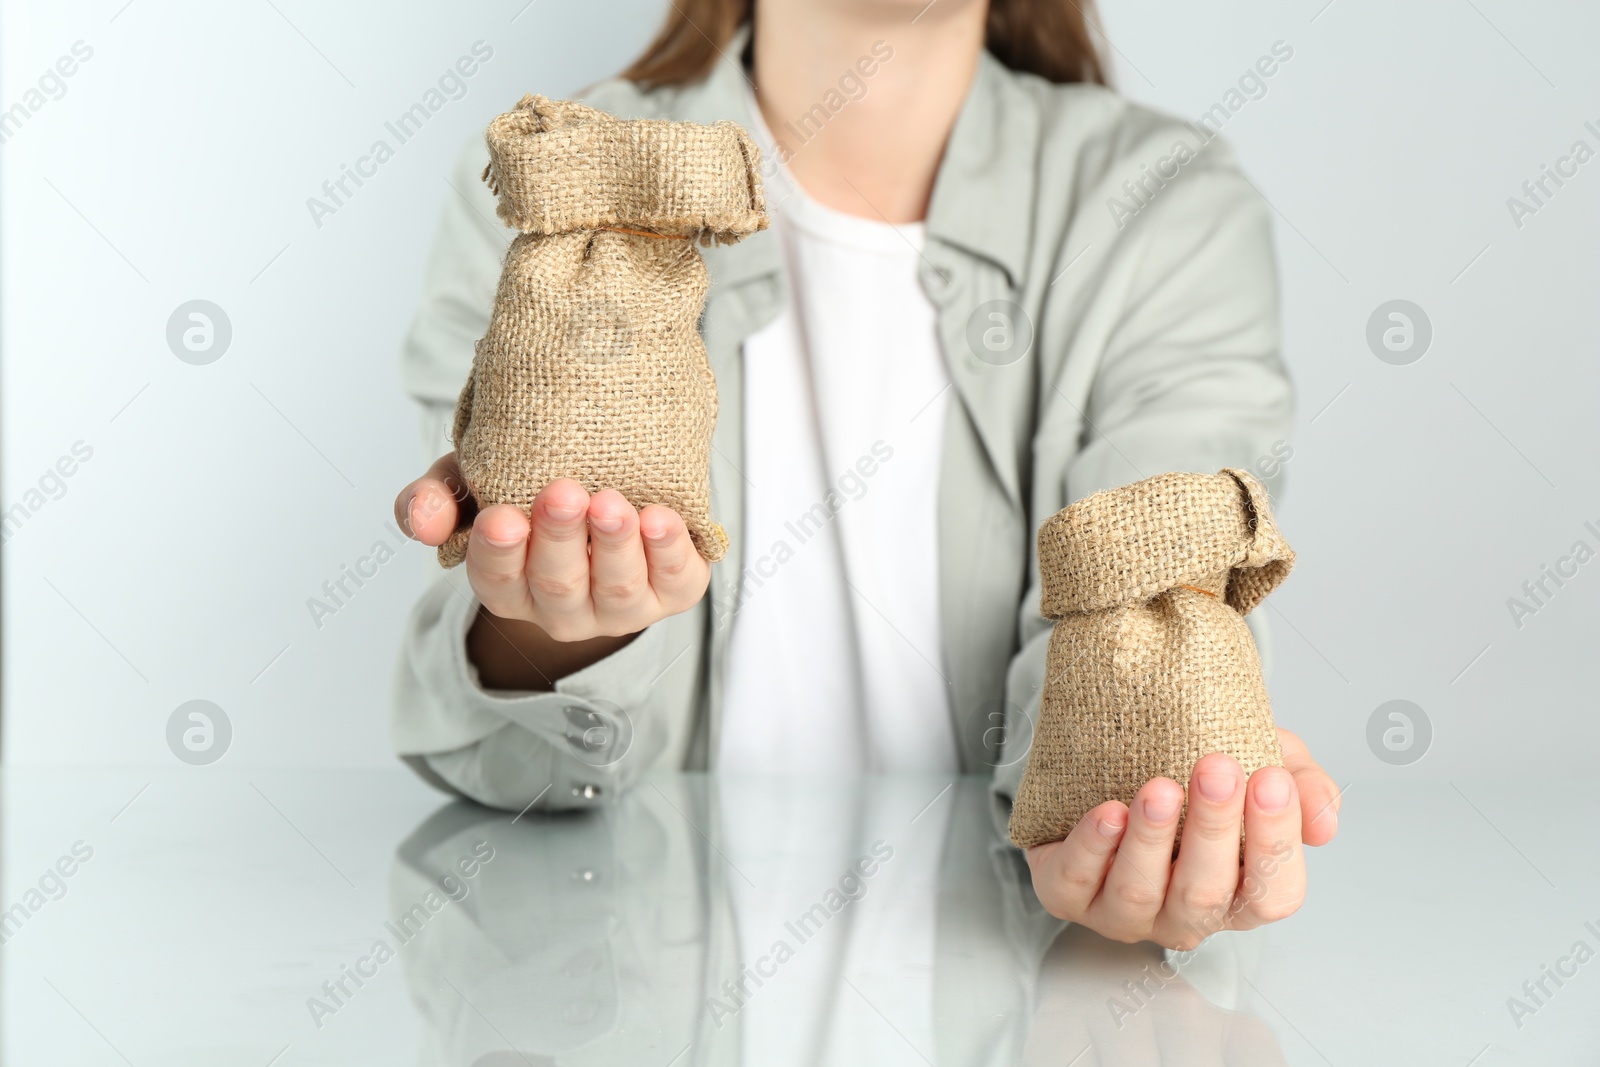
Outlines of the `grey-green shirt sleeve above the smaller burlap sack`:
{"label": "grey-green shirt sleeve above the smaller burlap sack", "polygon": [[[1280,357],[1270,208],[1226,144],[1134,218],[1110,270],[1101,341],[1066,499],[1168,470],[1256,470],[1274,496],[1294,418]],[[1062,400],[1054,394],[1056,400]]]}

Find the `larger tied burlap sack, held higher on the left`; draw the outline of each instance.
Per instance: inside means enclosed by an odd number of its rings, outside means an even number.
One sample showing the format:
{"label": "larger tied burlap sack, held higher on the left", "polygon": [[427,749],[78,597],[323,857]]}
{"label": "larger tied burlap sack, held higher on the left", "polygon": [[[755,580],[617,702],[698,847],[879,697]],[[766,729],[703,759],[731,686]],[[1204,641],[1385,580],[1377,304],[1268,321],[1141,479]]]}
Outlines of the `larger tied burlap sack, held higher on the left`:
{"label": "larger tied burlap sack, held higher on the left", "polygon": [[[766,229],[760,157],[736,123],[622,122],[525,96],[488,128],[506,253],[451,438],[478,507],[523,512],[555,478],[664,504],[720,560],[710,517],[717,381],[696,243]],[[470,523],[440,545],[461,563]]]}

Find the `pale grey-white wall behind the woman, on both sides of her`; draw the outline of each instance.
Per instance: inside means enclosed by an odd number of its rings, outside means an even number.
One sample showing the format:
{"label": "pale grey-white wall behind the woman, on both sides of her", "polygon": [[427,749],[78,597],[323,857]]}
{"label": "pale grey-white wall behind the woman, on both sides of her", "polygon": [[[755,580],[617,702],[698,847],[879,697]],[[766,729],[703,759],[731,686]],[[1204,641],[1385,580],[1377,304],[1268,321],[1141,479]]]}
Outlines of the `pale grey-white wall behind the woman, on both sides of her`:
{"label": "pale grey-white wall behind the woman, on both sides of her", "polygon": [[[275,3],[275,6],[274,6]],[[163,765],[210,699],[238,766],[389,766],[403,616],[430,553],[381,569],[322,629],[306,601],[386,533],[421,450],[397,379],[464,139],[523,91],[616,72],[654,0],[5,3],[0,107],[74,42],[93,59],[0,147],[3,483],[11,507],[74,442],[93,459],[3,547],[5,758]],[[518,14],[520,13],[520,14]],[[1274,42],[1293,58],[1226,136],[1277,211],[1301,414],[1269,601],[1278,718],[1341,781],[1584,773],[1600,561],[1525,621],[1507,598],[1574,541],[1600,549],[1594,294],[1600,160],[1518,229],[1506,198],[1574,139],[1600,149],[1590,5],[1510,0],[1109,3],[1120,88],[1184,117]],[[477,40],[494,56],[323,219],[325,179]],[[1104,42],[1102,42],[1104,43]],[[226,309],[210,366],[166,347]],[[1422,306],[1427,355],[1366,347]],[[1366,721],[1435,731],[1389,768]]]}

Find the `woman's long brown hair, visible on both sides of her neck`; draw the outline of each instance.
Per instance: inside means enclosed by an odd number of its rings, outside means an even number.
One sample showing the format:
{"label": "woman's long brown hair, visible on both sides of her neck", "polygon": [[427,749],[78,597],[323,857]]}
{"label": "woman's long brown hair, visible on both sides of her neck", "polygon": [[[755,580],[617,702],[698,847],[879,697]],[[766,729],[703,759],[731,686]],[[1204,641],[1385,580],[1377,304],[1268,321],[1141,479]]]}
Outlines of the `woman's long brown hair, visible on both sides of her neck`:
{"label": "woman's long brown hair, visible on both sides of her neck", "polygon": [[[674,0],[666,24],[622,77],[643,88],[691,85],[750,21],[754,0]],[[984,43],[995,59],[1048,82],[1106,85],[1090,37],[1093,0],[989,0]]]}

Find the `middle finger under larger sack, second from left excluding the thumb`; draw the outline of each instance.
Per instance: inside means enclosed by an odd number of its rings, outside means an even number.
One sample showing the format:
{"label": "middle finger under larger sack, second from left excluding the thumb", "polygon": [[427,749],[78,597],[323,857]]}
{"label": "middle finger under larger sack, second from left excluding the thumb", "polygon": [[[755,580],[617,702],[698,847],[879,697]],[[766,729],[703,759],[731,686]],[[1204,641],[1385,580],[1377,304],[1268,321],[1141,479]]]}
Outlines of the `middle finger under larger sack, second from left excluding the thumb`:
{"label": "middle finger under larger sack, second from left excluding the thumb", "polygon": [[528,589],[536,622],[557,641],[594,637],[589,593],[589,490],[557,478],[533,499]]}

